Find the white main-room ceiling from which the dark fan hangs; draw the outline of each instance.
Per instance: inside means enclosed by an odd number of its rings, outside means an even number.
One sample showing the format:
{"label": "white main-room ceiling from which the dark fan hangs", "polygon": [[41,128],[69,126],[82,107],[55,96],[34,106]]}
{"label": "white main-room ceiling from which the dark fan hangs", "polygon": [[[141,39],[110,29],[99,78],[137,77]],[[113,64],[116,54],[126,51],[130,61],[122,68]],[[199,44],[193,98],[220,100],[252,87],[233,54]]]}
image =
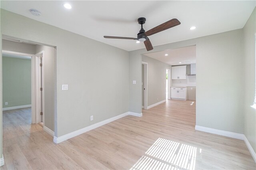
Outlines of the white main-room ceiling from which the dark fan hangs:
{"label": "white main-room ceiling from which the dark fan hangs", "polygon": [[[72,9],[62,5],[69,2]],[[150,36],[153,46],[178,42],[243,28],[255,7],[252,1],[4,1],[1,8],[132,51],[144,48],[135,40],[105,39],[103,36],[136,38],[139,17],[146,18],[147,31],[172,18],[181,24]],[[37,9],[42,16],[33,16]],[[196,26],[196,30],[189,30]]]}

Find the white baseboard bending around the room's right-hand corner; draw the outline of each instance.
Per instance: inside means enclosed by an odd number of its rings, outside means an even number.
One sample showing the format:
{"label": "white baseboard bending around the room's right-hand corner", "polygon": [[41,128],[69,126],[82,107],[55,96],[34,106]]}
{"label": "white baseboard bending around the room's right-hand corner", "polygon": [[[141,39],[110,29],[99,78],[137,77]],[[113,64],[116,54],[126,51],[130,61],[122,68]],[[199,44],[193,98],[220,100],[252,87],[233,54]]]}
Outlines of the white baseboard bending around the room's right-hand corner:
{"label": "white baseboard bending around the room's right-hand corner", "polygon": [[227,137],[230,137],[230,138],[236,138],[236,139],[244,140],[248,150],[250,151],[250,153],[252,155],[252,158],[256,162],[256,154],[255,154],[250,142],[247,140],[247,138],[244,134],[228,132],[228,131],[224,131],[224,130],[217,130],[217,129],[214,129],[214,128],[201,127],[201,126],[197,126],[197,125],[195,127],[195,130],[200,130],[200,131],[203,131],[203,132],[208,132],[208,133],[212,133],[212,134],[219,134],[219,135],[227,136]]}

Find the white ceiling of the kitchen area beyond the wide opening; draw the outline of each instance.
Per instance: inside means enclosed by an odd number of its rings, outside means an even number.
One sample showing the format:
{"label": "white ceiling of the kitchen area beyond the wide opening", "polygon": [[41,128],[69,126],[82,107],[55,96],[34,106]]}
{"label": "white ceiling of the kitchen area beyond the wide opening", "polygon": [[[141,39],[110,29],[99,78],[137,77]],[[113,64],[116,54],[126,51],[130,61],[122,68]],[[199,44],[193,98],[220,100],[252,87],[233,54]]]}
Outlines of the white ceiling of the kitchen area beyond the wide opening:
{"label": "white ceiling of the kitchen area beyond the wide opening", "polygon": [[[165,56],[165,54],[168,54]],[[196,63],[196,46],[168,49],[165,51],[144,54],[170,65],[184,65]]]}

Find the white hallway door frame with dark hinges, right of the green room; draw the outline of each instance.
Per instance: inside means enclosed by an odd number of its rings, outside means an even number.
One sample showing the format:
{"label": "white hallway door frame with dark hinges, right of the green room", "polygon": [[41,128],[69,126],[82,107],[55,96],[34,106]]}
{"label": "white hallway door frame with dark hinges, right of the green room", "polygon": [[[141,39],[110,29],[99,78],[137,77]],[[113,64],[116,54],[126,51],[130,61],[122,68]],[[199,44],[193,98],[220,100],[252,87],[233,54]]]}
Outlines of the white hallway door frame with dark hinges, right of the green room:
{"label": "white hallway door frame with dark hinges, right of the green room", "polygon": [[[39,69],[40,69],[40,60],[39,57],[42,57],[42,99],[40,99],[40,79],[39,79]],[[42,105],[42,122],[44,126],[44,50],[36,53],[34,55],[34,76],[35,76],[35,123],[40,123],[40,105]]]}

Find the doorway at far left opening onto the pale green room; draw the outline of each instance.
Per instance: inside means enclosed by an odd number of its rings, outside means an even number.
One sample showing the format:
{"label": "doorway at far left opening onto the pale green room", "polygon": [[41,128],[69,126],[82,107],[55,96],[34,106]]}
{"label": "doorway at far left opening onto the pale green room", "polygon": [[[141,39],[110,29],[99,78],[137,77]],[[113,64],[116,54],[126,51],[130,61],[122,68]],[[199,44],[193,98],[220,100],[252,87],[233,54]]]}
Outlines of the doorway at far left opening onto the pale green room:
{"label": "doorway at far left opening onto the pale green room", "polygon": [[32,56],[29,53],[2,51],[4,125],[17,127],[21,122],[32,123]]}

